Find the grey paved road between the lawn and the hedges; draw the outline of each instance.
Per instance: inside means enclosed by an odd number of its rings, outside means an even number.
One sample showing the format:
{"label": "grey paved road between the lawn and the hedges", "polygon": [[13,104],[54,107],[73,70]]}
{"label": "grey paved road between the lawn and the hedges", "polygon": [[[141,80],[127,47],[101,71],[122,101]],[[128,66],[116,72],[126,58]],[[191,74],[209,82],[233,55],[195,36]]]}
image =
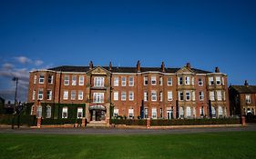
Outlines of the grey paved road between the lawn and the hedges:
{"label": "grey paved road between the lawn and the hedges", "polygon": [[0,134],[196,134],[212,132],[242,132],[255,131],[256,124],[235,127],[210,128],[176,128],[176,129],[118,129],[118,128],[41,128],[22,127],[14,130],[10,127],[0,128]]}

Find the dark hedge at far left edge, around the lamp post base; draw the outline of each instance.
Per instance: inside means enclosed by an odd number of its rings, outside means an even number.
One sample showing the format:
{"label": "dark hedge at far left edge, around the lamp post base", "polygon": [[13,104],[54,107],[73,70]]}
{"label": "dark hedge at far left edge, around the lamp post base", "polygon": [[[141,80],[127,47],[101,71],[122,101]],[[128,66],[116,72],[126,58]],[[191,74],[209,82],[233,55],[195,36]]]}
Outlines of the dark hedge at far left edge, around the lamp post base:
{"label": "dark hedge at far left edge, around the lamp post base", "polygon": [[[0,124],[9,124],[13,122],[13,114],[0,114]],[[15,125],[18,124],[18,115],[15,114]],[[20,114],[20,125],[36,125],[36,115]]]}

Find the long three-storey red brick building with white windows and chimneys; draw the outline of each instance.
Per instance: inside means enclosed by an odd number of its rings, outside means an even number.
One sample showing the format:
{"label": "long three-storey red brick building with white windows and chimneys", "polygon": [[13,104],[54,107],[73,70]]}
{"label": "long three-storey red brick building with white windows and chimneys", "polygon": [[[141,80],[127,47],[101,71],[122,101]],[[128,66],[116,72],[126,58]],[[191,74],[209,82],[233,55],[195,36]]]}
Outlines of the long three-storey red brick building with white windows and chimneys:
{"label": "long three-storey red brick building with white windows and chimneys", "polygon": [[[31,114],[43,118],[113,116],[172,119],[229,116],[227,75],[193,68],[58,66],[30,72]],[[44,104],[45,106],[42,106]],[[57,104],[67,106],[54,108]],[[76,110],[72,105],[78,105]],[[57,110],[57,113],[56,113]],[[75,114],[75,115],[74,115]]]}

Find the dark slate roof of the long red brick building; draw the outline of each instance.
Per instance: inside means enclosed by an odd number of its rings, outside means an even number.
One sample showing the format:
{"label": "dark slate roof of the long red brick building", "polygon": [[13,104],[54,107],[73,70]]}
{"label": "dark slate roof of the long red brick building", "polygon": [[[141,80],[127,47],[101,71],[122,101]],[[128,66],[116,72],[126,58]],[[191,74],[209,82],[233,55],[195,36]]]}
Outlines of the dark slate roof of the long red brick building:
{"label": "dark slate roof of the long red brick building", "polygon": [[[108,66],[103,66],[106,70],[109,71]],[[176,73],[180,68],[165,68],[166,73]],[[89,71],[89,66],[72,66],[72,65],[62,65],[54,68],[49,68],[48,70],[52,71],[62,71],[62,72],[87,72]],[[162,72],[160,67],[140,67],[141,72]],[[209,74],[211,72],[204,71],[196,68],[191,68],[191,70],[196,74]],[[112,73],[137,73],[137,67],[119,67],[119,66],[112,66],[111,71]]]}

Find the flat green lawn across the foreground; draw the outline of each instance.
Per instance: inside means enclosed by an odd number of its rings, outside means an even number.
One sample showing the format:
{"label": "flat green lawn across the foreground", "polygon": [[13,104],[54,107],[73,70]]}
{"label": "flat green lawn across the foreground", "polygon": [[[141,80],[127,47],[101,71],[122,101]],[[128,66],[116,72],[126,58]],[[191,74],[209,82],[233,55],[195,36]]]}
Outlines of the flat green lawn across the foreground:
{"label": "flat green lawn across the foreground", "polygon": [[256,158],[256,132],[0,134],[0,158]]}

